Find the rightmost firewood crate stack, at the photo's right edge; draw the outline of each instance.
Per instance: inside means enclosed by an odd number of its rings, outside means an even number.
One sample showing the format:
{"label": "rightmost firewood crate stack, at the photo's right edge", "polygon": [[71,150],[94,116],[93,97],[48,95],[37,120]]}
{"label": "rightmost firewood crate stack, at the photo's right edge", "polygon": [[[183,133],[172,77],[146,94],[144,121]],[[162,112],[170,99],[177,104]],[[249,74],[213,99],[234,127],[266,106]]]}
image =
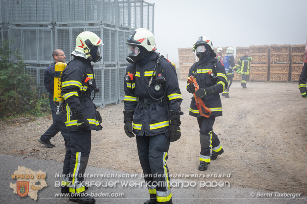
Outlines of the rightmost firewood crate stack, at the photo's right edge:
{"label": "rightmost firewood crate stack, at the photo's right edge", "polygon": [[291,45],[291,81],[298,81],[304,61],[305,45]]}

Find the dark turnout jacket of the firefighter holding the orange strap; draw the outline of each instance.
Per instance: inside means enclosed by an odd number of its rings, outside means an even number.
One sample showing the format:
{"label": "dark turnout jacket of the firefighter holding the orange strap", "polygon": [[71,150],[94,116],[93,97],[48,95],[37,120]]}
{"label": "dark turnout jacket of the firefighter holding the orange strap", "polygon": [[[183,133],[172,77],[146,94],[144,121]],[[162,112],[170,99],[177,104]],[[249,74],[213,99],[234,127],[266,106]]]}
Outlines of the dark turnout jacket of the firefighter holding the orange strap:
{"label": "dark turnout jacket of the firefighter holding the orange strap", "polygon": [[[212,77],[209,75],[209,72],[215,73],[215,71],[213,71],[215,64],[217,71],[216,82],[212,81]],[[206,95],[204,98],[201,98],[201,100],[203,100],[205,106],[211,110],[211,116],[222,116],[222,103],[219,93],[225,91],[228,86],[228,80],[223,64],[217,61],[216,58],[210,59],[205,64],[199,64],[199,62],[196,62],[192,65],[189,71],[189,76],[193,76],[194,74],[199,88],[214,86],[216,93]],[[194,97],[192,97],[189,115],[198,118],[201,117],[199,110],[197,109]]]}

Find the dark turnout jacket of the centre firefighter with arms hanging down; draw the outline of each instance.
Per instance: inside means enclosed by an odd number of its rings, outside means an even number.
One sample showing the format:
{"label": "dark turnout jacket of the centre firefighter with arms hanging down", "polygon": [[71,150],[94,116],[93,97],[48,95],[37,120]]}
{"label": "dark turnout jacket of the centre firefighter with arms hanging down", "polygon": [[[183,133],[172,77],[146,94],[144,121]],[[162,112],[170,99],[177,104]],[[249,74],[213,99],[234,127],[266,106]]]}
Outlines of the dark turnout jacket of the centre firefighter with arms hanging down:
{"label": "dark turnout jacket of the centre firefighter with arms hanging down", "polygon": [[[182,95],[178,85],[175,67],[166,59],[160,60],[158,74],[163,71],[165,78],[164,87],[161,90],[154,90],[156,84],[154,68],[159,57],[159,53],[152,53],[144,64],[129,64],[126,69],[128,73],[135,73],[134,80],[124,82],[124,109],[134,110],[133,132],[138,136],[154,136],[169,130],[169,115],[164,110],[163,101],[159,99],[166,91],[166,100],[169,111],[180,111]],[[148,87],[151,76],[154,74],[152,83]],[[164,91],[165,89],[165,91]],[[149,90],[149,93],[148,93]]]}

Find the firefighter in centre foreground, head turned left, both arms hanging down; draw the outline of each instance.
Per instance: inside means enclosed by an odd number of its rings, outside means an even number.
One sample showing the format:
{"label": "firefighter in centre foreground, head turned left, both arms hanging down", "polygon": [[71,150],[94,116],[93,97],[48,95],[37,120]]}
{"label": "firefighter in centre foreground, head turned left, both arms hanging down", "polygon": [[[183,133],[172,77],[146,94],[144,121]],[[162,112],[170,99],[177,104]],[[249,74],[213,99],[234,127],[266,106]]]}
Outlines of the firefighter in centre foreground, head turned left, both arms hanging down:
{"label": "firefighter in centre foreground, head turned left, both arms hanging down", "polygon": [[126,59],[130,64],[124,85],[124,130],[130,138],[136,135],[150,194],[145,204],[172,204],[166,161],[170,142],[181,136],[179,126],[183,114],[176,70],[168,59],[159,56],[151,31],[136,29],[127,44]]}

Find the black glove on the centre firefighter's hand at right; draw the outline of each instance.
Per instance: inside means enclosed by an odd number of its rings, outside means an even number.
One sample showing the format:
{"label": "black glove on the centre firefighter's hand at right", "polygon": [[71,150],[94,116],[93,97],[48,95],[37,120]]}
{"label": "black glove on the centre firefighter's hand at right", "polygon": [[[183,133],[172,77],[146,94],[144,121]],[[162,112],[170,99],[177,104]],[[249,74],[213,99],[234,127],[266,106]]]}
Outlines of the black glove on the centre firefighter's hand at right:
{"label": "black glove on the centre firefighter's hand at right", "polygon": [[181,136],[181,130],[180,130],[180,115],[183,115],[184,113],[181,111],[170,111],[170,125],[169,130],[167,132],[167,138],[170,140],[170,142],[177,141]]}

